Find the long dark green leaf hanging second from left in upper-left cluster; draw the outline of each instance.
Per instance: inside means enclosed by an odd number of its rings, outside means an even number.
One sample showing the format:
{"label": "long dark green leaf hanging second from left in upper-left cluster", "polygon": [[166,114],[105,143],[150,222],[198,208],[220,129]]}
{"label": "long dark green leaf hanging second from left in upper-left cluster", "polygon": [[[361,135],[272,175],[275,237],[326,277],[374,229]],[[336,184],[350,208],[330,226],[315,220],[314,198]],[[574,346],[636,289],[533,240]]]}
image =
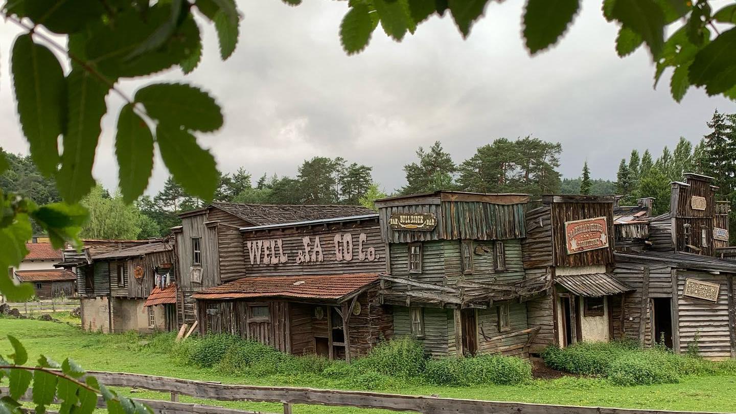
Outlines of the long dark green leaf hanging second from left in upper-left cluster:
{"label": "long dark green leaf hanging second from left in upper-left cluster", "polygon": [[67,82],[68,124],[56,183],[66,202],[77,203],[94,186],[92,164],[109,89],[86,71],[71,71]]}

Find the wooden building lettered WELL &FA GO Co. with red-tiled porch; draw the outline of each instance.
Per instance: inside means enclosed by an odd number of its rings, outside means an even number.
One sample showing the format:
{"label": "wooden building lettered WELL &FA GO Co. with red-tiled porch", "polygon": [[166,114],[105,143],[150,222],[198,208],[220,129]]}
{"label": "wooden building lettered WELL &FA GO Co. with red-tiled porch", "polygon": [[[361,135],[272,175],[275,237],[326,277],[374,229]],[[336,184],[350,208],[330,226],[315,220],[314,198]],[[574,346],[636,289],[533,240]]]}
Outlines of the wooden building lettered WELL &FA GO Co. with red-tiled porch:
{"label": "wooden building lettered WELL &FA GO Co. with red-tiled porch", "polygon": [[[240,229],[243,270],[200,290],[199,326],[292,354],[350,360],[392,335],[377,214]],[[222,256],[221,256],[222,257]]]}

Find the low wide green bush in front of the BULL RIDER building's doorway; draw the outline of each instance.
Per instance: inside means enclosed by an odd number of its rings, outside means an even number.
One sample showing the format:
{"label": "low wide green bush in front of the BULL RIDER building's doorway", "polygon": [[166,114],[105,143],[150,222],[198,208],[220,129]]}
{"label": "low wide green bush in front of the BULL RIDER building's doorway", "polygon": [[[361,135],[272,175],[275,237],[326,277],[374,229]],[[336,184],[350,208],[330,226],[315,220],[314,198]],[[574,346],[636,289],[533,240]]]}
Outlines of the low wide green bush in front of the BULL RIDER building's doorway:
{"label": "low wide green bush in front of the BULL RIDER building's doorway", "polygon": [[501,355],[432,359],[426,364],[425,379],[436,385],[515,385],[531,379],[531,364]]}

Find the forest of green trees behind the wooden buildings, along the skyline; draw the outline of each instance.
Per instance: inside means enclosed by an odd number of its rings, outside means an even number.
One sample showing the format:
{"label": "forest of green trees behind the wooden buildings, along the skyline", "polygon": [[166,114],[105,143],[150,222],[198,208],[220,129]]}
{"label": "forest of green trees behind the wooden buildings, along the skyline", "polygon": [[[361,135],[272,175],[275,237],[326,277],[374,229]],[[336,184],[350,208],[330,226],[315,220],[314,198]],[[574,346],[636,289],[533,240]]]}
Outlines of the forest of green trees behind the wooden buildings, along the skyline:
{"label": "forest of green trees behind the wooden buildings, along the skyline", "polygon": [[[680,137],[674,149],[665,146],[656,159],[650,150],[632,150],[622,159],[617,179],[591,178],[587,161],[577,178],[562,178],[557,171],[562,145],[526,136],[497,138],[478,147],[459,163],[437,141],[420,147],[417,159],[403,166],[406,185],[386,192],[372,177],[372,167],[344,158],[314,157],[303,161],[294,177],[264,173],[254,180],[247,169],[220,172],[215,200],[266,204],[361,204],[394,194],[414,194],[450,189],[469,192],[540,194],[617,194],[621,205],[640,197],[655,197],[654,213],[669,210],[670,182],[683,172],[715,178],[721,200],[736,201],[736,114],[713,114],[710,133],[693,144]],[[30,197],[36,203],[52,203],[60,195],[52,179],[44,178],[28,156],[8,154],[10,168],[0,175],[4,191]],[[126,205],[116,189],[97,186],[82,200],[91,220],[82,231],[88,239],[148,239],[166,236],[178,225],[178,214],[202,208],[205,203],[186,194],[171,177],[155,195],[144,195]],[[736,217],[732,217],[732,222]],[[733,225],[733,223],[732,223]],[[38,231],[38,228],[34,229]]]}

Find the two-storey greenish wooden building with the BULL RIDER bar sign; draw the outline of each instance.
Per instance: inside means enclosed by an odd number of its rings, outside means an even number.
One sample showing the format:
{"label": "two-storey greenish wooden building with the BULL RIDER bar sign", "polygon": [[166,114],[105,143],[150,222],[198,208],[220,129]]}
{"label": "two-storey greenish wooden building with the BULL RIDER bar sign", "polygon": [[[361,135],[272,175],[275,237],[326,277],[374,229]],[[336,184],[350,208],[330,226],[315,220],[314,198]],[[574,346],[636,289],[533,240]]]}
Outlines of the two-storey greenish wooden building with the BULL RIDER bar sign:
{"label": "two-storey greenish wooden building with the BULL RIDER bar sign", "polygon": [[446,191],[376,201],[388,249],[379,300],[392,306],[394,335],[432,357],[526,355],[539,331],[528,300],[549,287],[524,272],[527,201]]}

